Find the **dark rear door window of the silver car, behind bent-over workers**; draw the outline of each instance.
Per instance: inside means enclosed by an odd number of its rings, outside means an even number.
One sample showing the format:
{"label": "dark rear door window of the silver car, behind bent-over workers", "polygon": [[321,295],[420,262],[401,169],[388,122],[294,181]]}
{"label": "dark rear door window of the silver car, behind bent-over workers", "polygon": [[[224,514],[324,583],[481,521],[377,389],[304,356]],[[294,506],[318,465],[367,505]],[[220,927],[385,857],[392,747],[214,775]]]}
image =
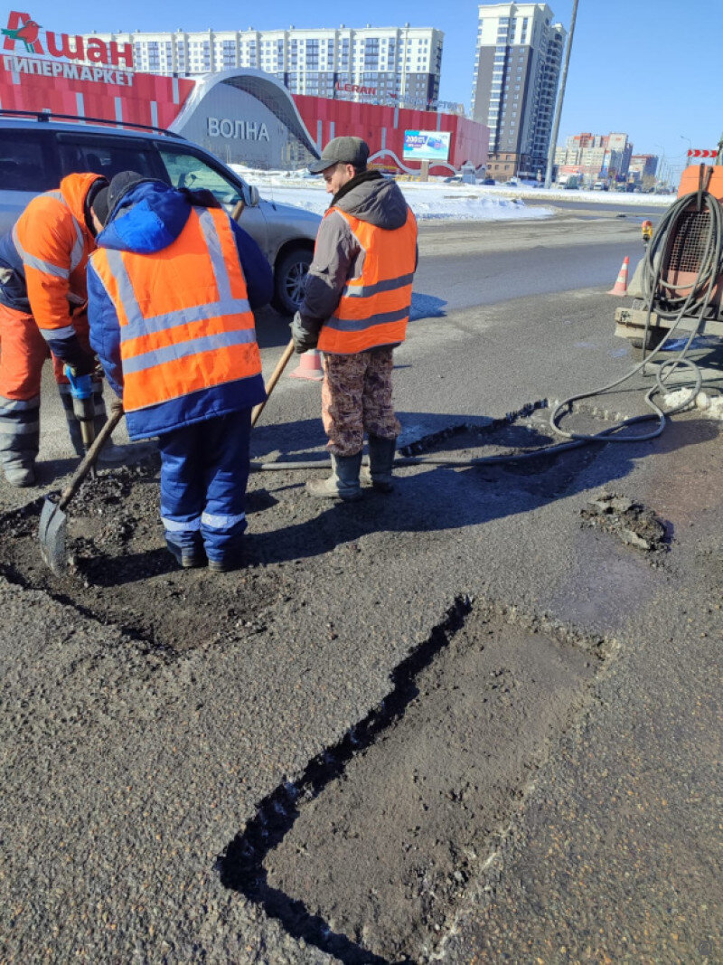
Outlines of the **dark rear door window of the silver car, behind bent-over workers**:
{"label": "dark rear door window of the silver car, behind bent-over workers", "polygon": [[141,138],[93,137],[58,133],[58,147],[64,174],[93,171],[108,180],[120,171],[137,171],[145,178],[158,178],[152,142]]}

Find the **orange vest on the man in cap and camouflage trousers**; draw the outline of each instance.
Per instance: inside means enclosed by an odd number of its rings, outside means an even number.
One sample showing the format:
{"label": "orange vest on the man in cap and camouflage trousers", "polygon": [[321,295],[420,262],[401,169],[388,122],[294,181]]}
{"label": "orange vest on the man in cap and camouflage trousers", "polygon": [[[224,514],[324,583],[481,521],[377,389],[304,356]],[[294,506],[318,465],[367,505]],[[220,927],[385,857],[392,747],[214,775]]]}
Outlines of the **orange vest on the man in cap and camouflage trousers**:
{"label": "orange vest on the man in cap and camouflage trousers", "polygon": [[[408,208],[401,228],[387,230],[361,221],[339,207],[364,252],[362,276],[350,279],[334,315],[321,326],[323,352],[351,355],[404,342],[415,276],[416,220]],[[326,217],[326,215],[325,215]]]}

